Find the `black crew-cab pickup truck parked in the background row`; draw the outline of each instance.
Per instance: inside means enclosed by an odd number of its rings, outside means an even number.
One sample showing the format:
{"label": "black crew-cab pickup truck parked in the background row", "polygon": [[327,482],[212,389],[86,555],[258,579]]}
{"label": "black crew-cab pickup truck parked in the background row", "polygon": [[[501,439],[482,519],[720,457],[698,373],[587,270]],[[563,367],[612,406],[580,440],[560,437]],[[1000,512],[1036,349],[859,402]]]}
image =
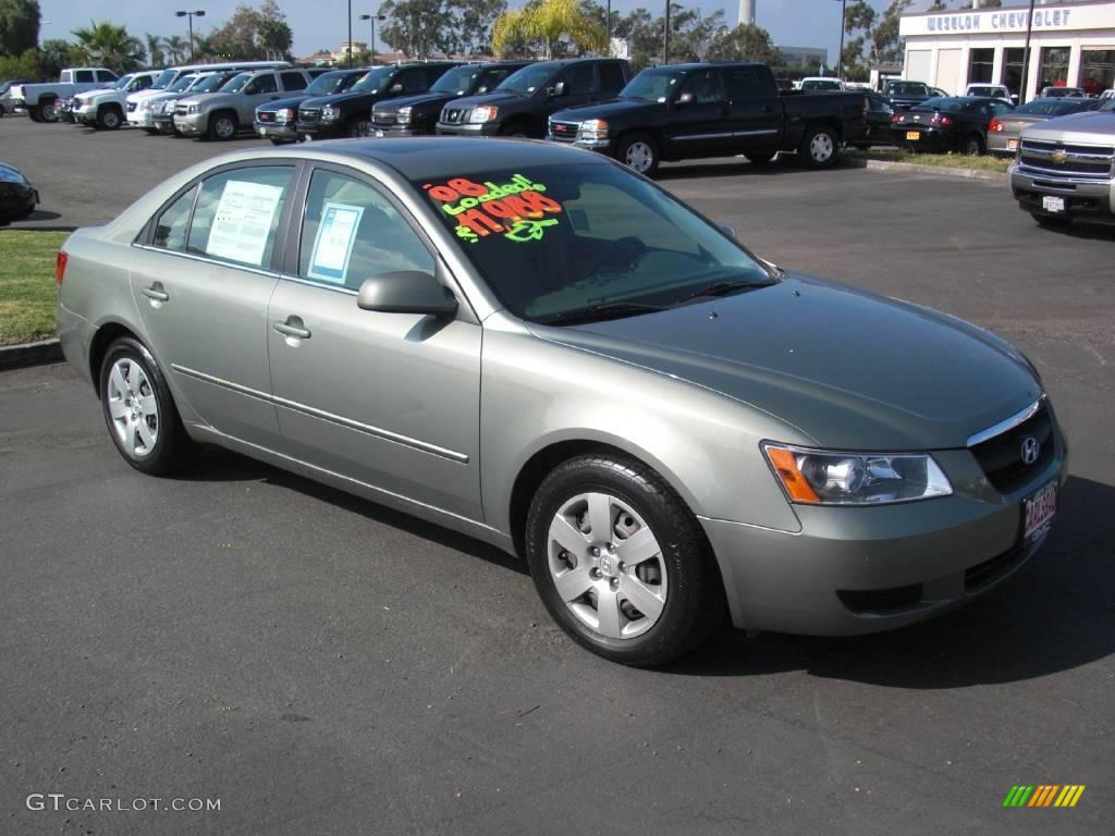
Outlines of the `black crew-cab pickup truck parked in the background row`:
{"label": "black crew-cab pickup truck parked in the background row", "polygon": [[618,99],[550,117],[549,138],[602,152],[650,174],[659,162],[744,154],[768,163],[796,150],[831,165],[866,134],[862,93],[779,91],[765,64],[676,64],[646,69]]}

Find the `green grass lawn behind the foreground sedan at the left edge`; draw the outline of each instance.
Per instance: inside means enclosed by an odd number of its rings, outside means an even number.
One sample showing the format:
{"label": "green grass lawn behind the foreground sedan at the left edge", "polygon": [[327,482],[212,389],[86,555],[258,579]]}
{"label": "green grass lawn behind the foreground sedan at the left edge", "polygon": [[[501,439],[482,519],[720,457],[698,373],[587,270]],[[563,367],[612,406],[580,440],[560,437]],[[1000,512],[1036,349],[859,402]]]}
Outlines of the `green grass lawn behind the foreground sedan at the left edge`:
{"label": "green grass lawn behind the foreground sedan at the left edge", "polygon": [[67,235],[0,230],[0,346],[55,336],[55,256]]}

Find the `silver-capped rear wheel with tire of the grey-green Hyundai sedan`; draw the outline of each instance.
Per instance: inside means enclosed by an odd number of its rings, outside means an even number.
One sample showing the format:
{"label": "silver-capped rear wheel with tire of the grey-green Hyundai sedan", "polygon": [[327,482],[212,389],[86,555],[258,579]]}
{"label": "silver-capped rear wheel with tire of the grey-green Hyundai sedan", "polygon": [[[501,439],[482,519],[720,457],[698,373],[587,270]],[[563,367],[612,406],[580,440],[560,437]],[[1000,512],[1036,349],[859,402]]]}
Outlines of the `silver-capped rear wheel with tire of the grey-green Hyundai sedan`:
{"label": "silver-capped rear wheel with tire of the grey-green Hyundai sedan", "polygon": [[100,366],[100,406],[124,460],[162,476],[176,470],[191,447],[158,363],[133,337],[108,347]]}

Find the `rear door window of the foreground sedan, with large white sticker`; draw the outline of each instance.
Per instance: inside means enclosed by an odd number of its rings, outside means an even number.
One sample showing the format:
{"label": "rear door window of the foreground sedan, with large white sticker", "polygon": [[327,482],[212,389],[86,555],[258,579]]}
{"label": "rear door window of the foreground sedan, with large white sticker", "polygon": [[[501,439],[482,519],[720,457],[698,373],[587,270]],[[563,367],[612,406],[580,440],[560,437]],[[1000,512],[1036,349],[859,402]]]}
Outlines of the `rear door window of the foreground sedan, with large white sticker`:
{"label": "rear door window of the foreground sedan, with large white sticker", "polygon": [[202,184],[186,251],[269,266],[292,166],[239,168]]}

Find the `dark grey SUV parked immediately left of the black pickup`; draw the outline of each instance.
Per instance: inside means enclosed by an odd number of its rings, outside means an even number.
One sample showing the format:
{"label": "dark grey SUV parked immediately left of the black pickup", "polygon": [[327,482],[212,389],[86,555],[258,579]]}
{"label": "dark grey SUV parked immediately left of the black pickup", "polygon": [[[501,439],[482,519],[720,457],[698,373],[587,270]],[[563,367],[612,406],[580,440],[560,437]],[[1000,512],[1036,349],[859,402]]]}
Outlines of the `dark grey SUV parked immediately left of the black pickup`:
{"label": "dark grey SUV parked immediately left of the black pickup", "polygon": [[613,99],[631,75],[631,67],[619,58],[530,64],[508,76],[494,93],[450,101],[442,110],[437,133],[542,138],[552,113]]}

